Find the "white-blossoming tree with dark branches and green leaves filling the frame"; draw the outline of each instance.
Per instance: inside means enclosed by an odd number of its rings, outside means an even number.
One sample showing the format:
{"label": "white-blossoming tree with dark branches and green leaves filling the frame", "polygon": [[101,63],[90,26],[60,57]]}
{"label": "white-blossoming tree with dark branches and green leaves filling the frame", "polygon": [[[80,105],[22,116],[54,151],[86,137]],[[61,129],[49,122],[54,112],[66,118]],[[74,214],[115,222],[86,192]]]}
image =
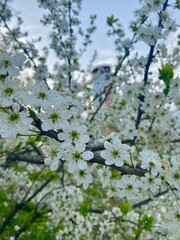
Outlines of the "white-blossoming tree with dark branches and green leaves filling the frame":
{"label": "white-blossoming tree with dark branches and green leaves filling the frame", "polygon": [[49,49],[28,40],[19,16],[11,28],[11,5],[0,1],[1,239],[178,240],[180,42],[170,13],[180,2],[141,1],[131,39],[107,17],[117,64],[95,95],[79,59],[96,16],[83,30],[81,0],[38,3],[52,30],[53,72]]}

